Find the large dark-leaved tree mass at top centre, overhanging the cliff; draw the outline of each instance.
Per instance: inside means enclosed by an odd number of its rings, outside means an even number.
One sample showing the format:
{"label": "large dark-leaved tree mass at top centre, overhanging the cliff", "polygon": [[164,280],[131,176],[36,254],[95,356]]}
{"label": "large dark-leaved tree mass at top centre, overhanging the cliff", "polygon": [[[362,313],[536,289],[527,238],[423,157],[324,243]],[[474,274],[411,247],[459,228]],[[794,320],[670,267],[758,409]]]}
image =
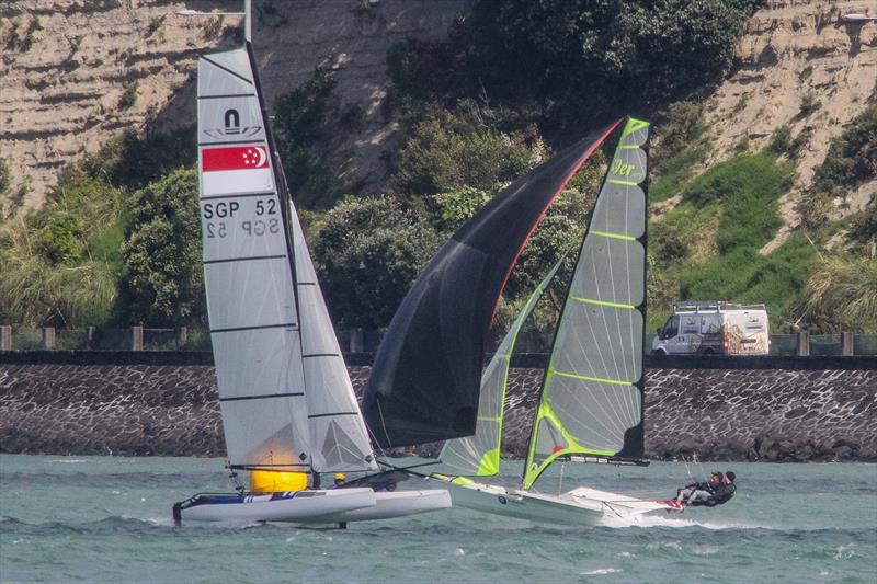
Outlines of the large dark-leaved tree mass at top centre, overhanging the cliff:
{"label": "large dark-leaved tree mass at top centre, overhanging the cliff", "polygon": [[593,123],[718,81],[762,3],[481,0],[448,43],[396,47],[389,72],[415,99],[486,93],[553,126]]}

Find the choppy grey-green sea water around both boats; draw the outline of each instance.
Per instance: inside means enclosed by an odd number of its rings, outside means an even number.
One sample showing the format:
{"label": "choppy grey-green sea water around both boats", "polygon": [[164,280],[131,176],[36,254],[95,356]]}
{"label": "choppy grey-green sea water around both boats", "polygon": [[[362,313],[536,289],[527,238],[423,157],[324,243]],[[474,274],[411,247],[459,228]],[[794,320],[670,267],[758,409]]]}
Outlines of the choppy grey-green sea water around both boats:
{"label": "choppy grey-green sea water around both boats", "polygon": [[667,497],[713,470],[737,472],[728,504],[613,527],[464,508],[346,530],[174,527],[173,502],[228,490],[221,460],[0,455],[0,582],[877,583],[877,465],[569,463],[562,488]]}

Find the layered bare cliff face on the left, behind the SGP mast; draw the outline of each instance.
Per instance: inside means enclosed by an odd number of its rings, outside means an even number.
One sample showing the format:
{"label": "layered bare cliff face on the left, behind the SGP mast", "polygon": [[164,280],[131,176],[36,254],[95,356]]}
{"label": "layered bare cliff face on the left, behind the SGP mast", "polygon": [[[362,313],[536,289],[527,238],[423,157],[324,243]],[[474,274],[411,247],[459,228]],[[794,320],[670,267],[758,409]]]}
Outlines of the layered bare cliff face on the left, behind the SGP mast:
{"label": "layered bare cliff face on the left, behind the SGP mast", "polygon": [[[386,51],[406,37],[440,37],[468,0],[255,0],[254,45],[267,103],[338,69],[342,105],[363,113],[342,156],[380,175],[396,124],[384,119]],[[25,207],[42,204],[57,172],[125,128],[194,123],[197,55],[239,41],[240,10],[220,0],[13,0],[0,5],[0,157],[14,183],[30,176]],[[29,39],[30,38],[30,39]]]}

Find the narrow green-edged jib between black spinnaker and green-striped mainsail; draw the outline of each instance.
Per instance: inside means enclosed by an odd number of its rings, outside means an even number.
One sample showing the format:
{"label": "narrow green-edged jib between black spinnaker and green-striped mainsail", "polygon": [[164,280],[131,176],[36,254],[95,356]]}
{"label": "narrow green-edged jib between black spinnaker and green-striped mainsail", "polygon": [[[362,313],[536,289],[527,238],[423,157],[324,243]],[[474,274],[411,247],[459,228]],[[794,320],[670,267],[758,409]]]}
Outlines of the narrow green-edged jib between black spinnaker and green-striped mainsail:
{"label": "narrow green-edged jib between black spinnaker and green-striped mainsail", "polygon": [[445,443],[438,455],[442,461],[438,472],[453,476],[490,477],[500,471],[505,387],[509,381],[509,367],[517,333],[521,332],[524,321],[533,312],[536,302],[539,301],[551,278],[555,277],[562,261],[563,257],[539,283],[502,339],[497,353],[493,354],[493,358],[490,359],[481,376],[481,394],[478,399],[478,420],[475,425],[475,434]]}

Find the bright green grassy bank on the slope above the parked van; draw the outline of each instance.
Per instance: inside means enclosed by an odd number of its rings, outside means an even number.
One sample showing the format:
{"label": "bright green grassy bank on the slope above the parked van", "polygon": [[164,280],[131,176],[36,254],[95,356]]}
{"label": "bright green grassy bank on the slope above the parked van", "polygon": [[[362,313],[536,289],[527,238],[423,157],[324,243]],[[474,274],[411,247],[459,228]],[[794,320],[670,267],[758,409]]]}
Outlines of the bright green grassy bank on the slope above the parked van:
{"label": "bright green grassy bank on the slope above the parked van", "polygon": [[788,328],[816,250],[796,234],[770,255],[759,249],[782,225],[777,201],[794,164],[775,152],[741,154],[688,182],[682,202],[650,230],[649,331],[674,300],[764,302],[772,327]]}

